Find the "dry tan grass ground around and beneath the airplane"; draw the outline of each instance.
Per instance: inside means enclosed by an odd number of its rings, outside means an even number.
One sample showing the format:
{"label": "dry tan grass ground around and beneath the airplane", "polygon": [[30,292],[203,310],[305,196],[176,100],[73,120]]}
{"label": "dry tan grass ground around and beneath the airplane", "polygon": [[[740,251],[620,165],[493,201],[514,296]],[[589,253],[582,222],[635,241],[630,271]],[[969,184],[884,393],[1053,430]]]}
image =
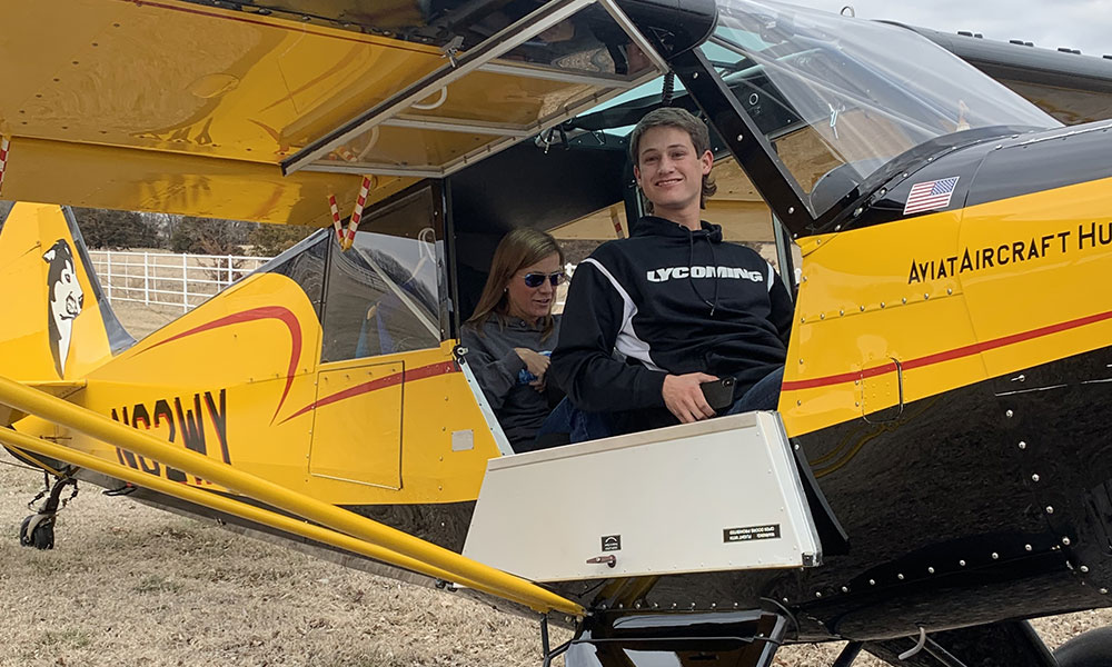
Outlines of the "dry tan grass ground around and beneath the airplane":
{"label": "dry tan grass ground around and beneath the airplane", "polygon": [[[177,313],[120,307],[140,337]],[[56,547],[19,546],[42,475],[0,454],[0,667],[306,667],[540,664],[537,624],[103,496],[82,485]],[[1112,623],[1035,621],[1052,647]],[[782,667],[827,667],[838,645],[786,647]],[[858,658],[855,665],[880,661]]]}

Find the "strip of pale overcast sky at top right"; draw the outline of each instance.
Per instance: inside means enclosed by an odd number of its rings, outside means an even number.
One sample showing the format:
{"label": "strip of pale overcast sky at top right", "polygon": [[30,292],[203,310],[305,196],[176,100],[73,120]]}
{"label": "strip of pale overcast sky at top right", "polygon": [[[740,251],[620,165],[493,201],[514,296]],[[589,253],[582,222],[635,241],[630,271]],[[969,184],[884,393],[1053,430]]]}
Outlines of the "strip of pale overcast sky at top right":
{"label": "strip of pale overcast sky at top right", "polygon": [[1112,0],[785,0],[860,19],[888,19],[942,32],[967,30],[985,39],[1022,39],[1036,47],[1112,54]]}

